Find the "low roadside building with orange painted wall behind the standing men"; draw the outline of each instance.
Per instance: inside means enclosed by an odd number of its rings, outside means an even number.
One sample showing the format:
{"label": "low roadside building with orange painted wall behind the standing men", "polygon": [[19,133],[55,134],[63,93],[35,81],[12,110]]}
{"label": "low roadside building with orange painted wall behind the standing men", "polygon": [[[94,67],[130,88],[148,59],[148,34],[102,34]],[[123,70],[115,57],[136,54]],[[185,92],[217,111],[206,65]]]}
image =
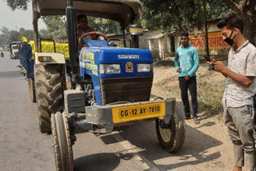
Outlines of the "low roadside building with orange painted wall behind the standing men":
{"label": "low roadside building with orange painted wall behind the standing men", "polygon": [[[223,41],[221,31],[217,27],[219,19],[208,22],[208,38],[209,51],[211,56],[226,57],[230,46]],[[108,34],[107,37],[122,38],[122,34]],[[143,35],[139,36],[139,48],[157,51],[160,58],[174,57],[175,50],[180,46],[179,34],[175,31],[169,34],[162,34],[160,31],[144,30]],[[126,34],[126,46],[130,47],[130,34]],[[194,32],[190,33],[190,45],[198,50],[199,57],[205,52],[205,34],[204,31],[194,28]]]}

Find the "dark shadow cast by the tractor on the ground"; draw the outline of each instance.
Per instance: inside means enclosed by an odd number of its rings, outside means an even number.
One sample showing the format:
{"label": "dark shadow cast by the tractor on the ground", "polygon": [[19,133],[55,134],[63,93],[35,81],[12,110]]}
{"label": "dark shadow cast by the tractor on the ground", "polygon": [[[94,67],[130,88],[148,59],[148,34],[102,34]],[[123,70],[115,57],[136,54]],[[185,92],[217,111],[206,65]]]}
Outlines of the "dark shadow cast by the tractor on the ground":
{"label": "dark shadow cast by the tractor on the ground", "polygon": [[[177,103],[177,105],[181,104]],[[211,125],[214,125],[214,122],[198,127]],[[139,149],[138,153],[96,153],[80,157],[74,161],[75,170],[114,170],[118,167],[120,160],[130,160],[135,155],[141,157],[142,162],[150,166],[148,170],[170,170],[186,165],[193,167],[193,165],[221,157],[220,151],[210,153],[209,149],[222,145],[222,142],[198,131],[197,128],[186,125],[186,140],[182,149],[178,153],[168,153],[158,143],[154,121],[118,127],[116,128],[118,133],[102,135],[99,138],[106,145],[129,141]],[[122,138],[115,138],[116,136]],[[98,165],[99,162],[101,165]]]}

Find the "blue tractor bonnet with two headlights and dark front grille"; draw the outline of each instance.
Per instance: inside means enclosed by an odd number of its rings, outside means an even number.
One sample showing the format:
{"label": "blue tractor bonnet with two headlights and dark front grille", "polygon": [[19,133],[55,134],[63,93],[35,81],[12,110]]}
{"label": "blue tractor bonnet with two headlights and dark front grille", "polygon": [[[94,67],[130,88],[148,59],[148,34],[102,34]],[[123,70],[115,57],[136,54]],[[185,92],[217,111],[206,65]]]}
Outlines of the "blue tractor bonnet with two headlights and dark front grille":
{"label": "blue tractor bonnet with two headlights and dark front grille", "polygon": [[153,82],[150,50],[107,46],[91,41],[79,56],[80,75],[85,85],[86,101],[97,105],[116,102],[149,101]]}

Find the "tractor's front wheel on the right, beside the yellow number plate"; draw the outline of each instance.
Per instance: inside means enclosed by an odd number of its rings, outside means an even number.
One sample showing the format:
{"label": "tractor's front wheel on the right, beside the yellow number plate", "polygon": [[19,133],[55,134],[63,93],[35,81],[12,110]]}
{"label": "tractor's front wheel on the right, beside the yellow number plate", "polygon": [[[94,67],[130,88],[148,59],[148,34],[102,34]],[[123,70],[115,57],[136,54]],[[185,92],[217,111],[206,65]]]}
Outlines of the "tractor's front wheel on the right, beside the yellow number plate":
{"label": "tractor's front wheel on the right, beside the yellow number plate", "polygon": [[168,152],[178,152],[184,144],[186,134],[182,111],[175,106],[175,112],[170,118],[169,125],[166,125],[164,120],[159,118],[156,118],[155,123],[158,141],[162,148]]}

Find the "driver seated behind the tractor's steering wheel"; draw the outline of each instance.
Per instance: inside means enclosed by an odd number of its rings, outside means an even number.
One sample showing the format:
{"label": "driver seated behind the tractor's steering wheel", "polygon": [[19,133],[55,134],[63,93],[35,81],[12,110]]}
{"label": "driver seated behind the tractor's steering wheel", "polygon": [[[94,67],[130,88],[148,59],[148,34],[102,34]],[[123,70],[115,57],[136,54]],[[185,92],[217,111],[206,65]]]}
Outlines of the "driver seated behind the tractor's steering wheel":
{"label": "driver seated behind the tractor's steering wheel", "polygon": [[[79,14],[77,19],[78,19],[78,46],[79,46],[79,49],[81,50],[83,47],[81,43],[82,34],[86,34],[87,32],[92,32],[94,30],[92,30],[90,26],[88,26],[88,20],[87,20],[86,14]],[[96,34],[91,34],[89,36],[84,37],[83,41],[88,42],[90,40],[94,40],[95,38],[96,38]]]}

